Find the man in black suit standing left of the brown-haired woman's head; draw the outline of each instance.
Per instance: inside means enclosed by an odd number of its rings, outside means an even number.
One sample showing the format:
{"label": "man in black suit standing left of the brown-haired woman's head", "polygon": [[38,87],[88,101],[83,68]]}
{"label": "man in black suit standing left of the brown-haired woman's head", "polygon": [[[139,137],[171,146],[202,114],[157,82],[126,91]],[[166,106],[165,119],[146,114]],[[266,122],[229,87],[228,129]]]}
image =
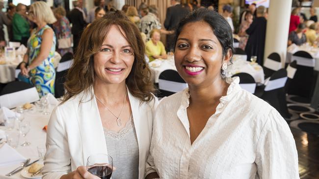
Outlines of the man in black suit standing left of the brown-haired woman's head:
{"label": "man in black suit standing left of the brown-haired woman's head", "polygon": [[72,23],[71,33],[73,34],[73,52],[75,53],[79,45],[82,31],[86,26],[86,22],[84,21],[84,12],[79,7],[79,2],[73,1],[73,6],[74,9],[70,11],[67,18]]}

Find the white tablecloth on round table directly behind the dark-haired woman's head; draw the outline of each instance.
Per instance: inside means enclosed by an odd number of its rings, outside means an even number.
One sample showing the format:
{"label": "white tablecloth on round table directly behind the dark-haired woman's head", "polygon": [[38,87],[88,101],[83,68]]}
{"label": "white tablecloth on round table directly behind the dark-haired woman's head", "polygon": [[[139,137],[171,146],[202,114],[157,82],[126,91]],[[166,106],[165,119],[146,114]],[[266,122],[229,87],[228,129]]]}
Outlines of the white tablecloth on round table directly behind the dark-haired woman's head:
{"label": "white tablecloth on round table directly behind the dark-haired woman's head", "polygon": [[[174,59],[169,58],[167,60],[156,59],[149,63],[149,66],[152,70],[152,78],[155,83],[159,83],[160,73],[166,69],[176,70]],[[251,65],[250,62],[247,62],[244,59],[235,58],[233,65],[229,67],[229,76],[232,76],[236,73],[245,72],[254,77],[256,83],[264,83],[264,70],[257,63]]]}

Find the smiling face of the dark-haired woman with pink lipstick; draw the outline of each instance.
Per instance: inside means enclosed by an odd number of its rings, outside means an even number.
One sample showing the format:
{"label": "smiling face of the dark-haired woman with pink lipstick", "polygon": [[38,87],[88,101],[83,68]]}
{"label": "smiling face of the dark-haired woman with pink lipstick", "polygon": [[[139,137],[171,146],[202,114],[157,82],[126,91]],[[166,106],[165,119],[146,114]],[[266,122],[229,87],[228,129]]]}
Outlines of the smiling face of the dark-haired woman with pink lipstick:
{"label": "smiling face of the dark-haired woman with pink lipstick", "polygon": [[222,63],[228,63],[229,50],[225,57],[222,46],[206,22],[186,23],[177,38],[175,66],[189,86],[213,84],[221,79]]}

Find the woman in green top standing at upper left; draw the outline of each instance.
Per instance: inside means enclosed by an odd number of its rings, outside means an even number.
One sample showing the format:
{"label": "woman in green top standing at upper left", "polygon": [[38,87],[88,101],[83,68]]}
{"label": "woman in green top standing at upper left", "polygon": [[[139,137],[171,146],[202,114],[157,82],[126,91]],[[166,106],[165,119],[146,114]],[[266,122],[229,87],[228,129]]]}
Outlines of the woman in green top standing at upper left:
{"label": "woman in green top standing at upper left", "polygon": [[27,46],[27,40],[30,37],[30,25],[26,20],[27,6],[19,3],[16,9],[17,12],[12,18],[13,39]]}

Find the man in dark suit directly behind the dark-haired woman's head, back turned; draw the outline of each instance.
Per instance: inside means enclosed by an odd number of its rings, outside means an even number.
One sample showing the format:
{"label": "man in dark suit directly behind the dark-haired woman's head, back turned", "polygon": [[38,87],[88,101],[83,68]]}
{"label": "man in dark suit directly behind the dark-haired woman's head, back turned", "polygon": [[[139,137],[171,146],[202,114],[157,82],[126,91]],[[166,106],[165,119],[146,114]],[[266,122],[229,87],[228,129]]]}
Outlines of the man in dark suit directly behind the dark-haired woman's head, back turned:
{"label": "man in dark suit directly behind the dark-haired woman's head, back turned", "polygon": [[[181,0],[171,0],[172,6],[166,10],[164,27],[169,31],[174,30],[177,24],[190,12],[189,7],[183,6],[180,2]],[[173,35],[166,36],[166,50],[168,52],[174,49],[173,41]]]}

